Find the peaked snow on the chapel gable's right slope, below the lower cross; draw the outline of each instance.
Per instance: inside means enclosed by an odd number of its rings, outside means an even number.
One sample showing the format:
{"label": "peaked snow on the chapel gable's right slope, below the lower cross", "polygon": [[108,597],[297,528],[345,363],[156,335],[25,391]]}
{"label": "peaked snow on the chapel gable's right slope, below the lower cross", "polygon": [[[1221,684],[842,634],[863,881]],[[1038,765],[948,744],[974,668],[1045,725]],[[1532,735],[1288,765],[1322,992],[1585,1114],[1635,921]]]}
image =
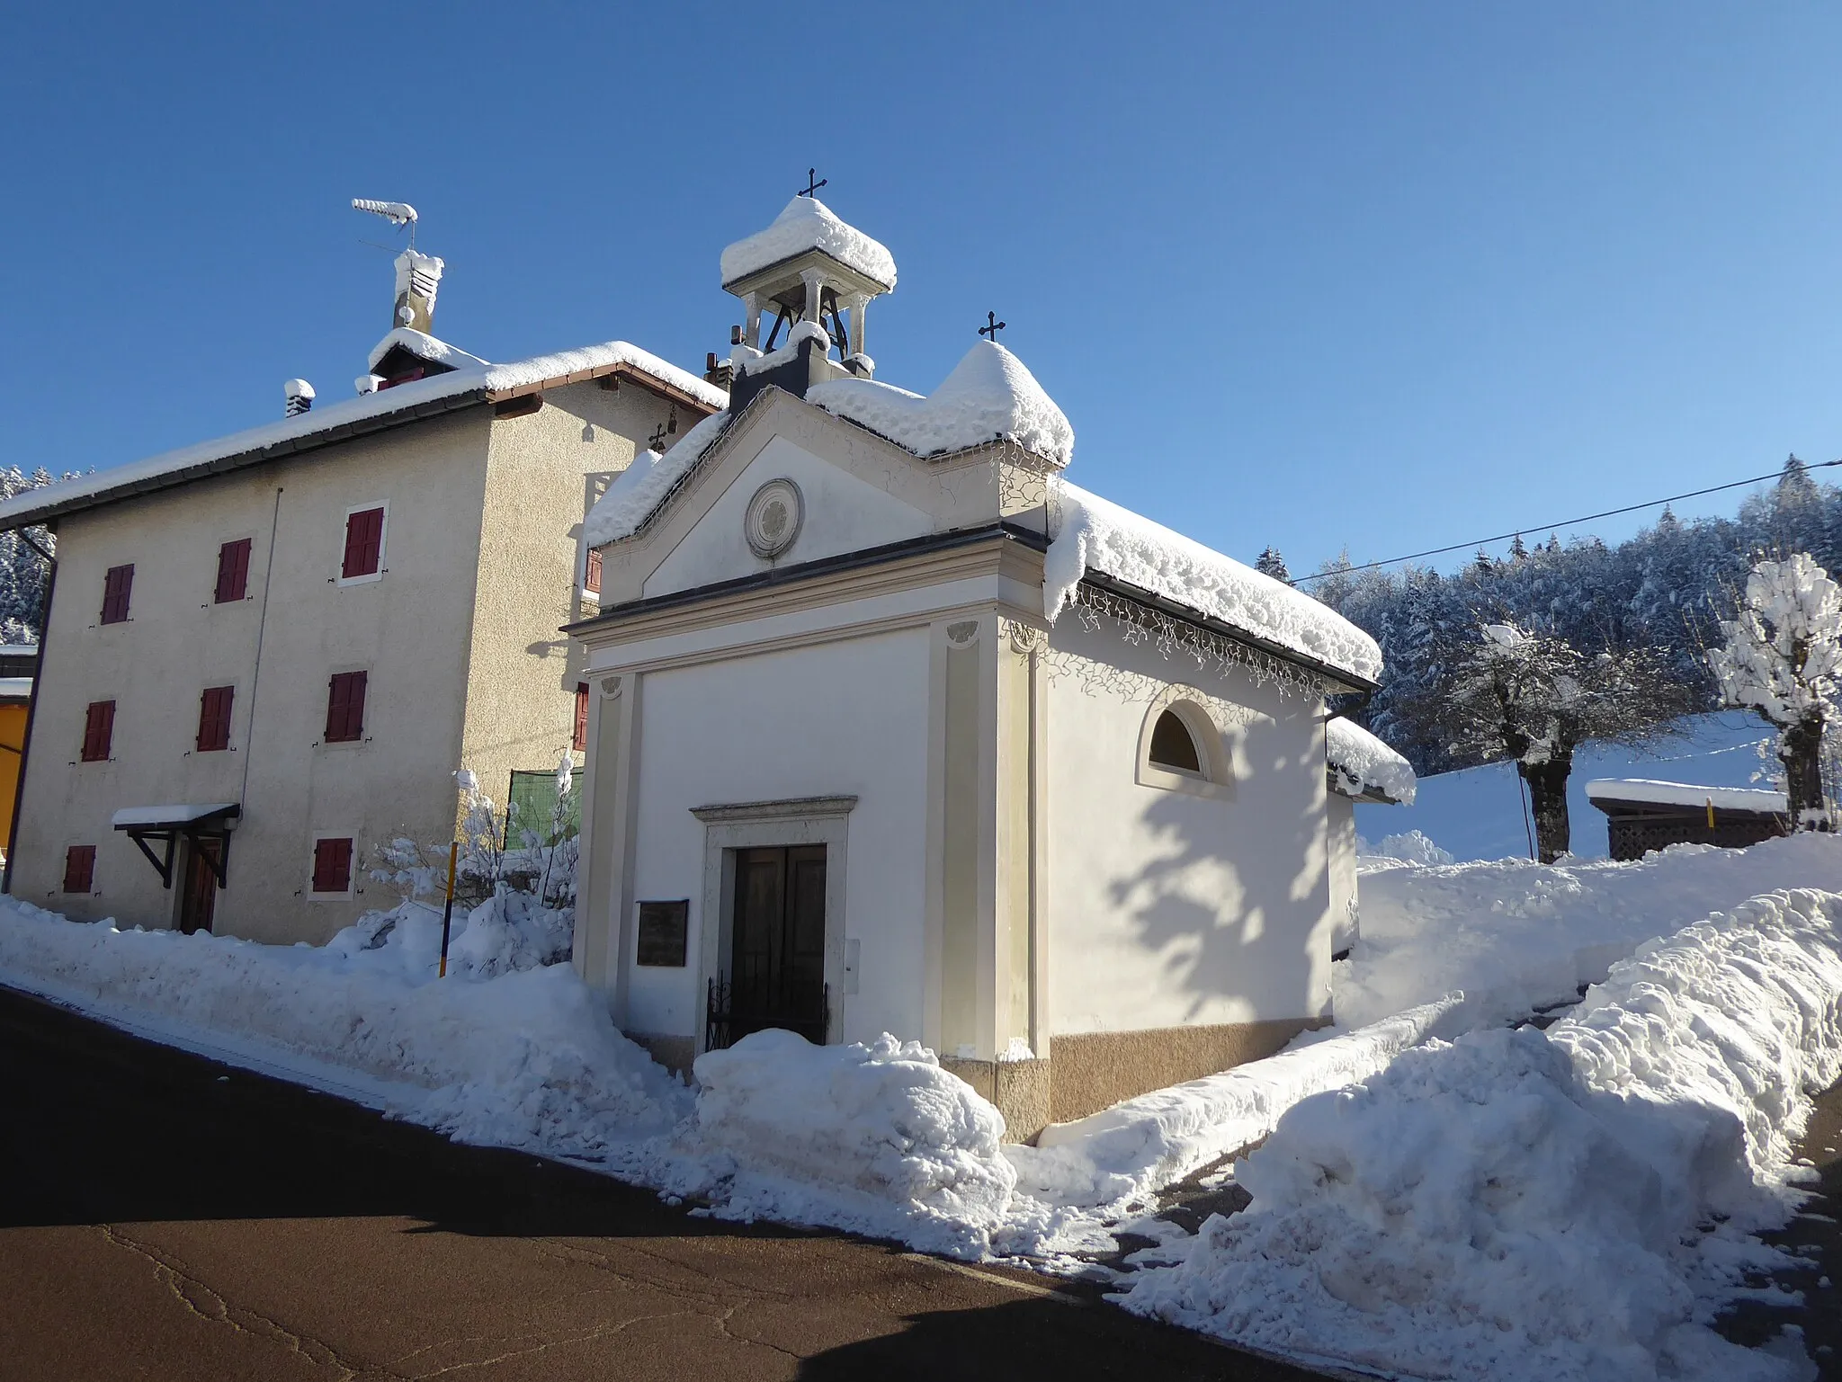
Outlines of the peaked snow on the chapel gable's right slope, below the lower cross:
{"label": "peaked snow on the chapel gable's right slope, below the lower cross", "polygon": [[923,457],[998,439],[1057,466],[1074,457],[1068,418],[1024,363],[997,341],[967,350],[928,398],[877,380],[827,380],[807,389],[807,402]]}

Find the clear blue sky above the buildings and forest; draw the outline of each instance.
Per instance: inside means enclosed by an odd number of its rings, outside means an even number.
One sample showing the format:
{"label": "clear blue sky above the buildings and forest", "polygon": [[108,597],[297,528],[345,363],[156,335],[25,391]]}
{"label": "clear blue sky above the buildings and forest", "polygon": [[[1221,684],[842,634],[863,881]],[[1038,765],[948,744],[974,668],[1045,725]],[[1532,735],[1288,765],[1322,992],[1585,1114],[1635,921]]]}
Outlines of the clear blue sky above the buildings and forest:
{"label": "clear blue sky above the buildings and forest", "polygon": [[696,367],[816,164],[901,265],[879,378],[997,310],[1089,488],[1297,571],[1534,531],[1842,455],[1838,57],[1814,4],[22,7],[0,463],[346,396],[354,195],[455,345]]}

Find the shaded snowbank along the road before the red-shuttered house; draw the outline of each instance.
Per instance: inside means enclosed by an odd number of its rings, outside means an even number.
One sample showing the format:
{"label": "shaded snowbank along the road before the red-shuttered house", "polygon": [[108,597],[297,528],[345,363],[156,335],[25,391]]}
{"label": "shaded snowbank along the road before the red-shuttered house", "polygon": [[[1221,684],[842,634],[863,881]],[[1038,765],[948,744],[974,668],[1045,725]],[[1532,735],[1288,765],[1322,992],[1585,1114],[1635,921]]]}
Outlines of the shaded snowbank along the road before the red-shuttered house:
{"label": "shaded snowbank along the road before the red-shuttered house", "polygon": [[460,1141],[645,1161],[645,1139],[689,1113],[689,1091],[613,1028],[569,966],[472,982],[462,945],[437,980],[440,927],[440,912],[407,905],[326,947],[260,945],[85,925],[6,899],[0,977],[308,1083],[356,1072],[400,1117]]}

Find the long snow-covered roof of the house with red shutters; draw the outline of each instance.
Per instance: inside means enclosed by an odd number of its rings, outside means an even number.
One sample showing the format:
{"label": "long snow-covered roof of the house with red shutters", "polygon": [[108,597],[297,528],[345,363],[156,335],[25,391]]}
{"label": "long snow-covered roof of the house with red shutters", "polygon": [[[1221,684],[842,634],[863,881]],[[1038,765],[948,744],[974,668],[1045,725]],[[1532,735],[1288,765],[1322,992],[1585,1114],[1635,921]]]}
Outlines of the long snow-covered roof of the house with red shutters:
{"label": "long snow-covered roof of the house with red shutters", "polygon": [[217,437],[216,440],[181,446],[177,451],[164,451],[146,461],[92,470],[76,479],[26,490],[0,501],[0,531],[90,509],[131,492],[181,485],[217,470],[230,470],[236,464],[249,464],[269,459],[269,455],[308,450],[315,444],[372,431],[391,426],[391,420],[403,413],[435,413],[442,411],[442,407],[457,407],[473,398],[495,398],[538,385],[573,383],[578,378],[606,372],[615,365],[630,365],[641,374],[648,374],[659,383],[670,385],[709,407],[724,407],[729,402],[729,394],[722,389],[626,341],[608,341],[580,350],[560,350],[553,356],[532,356],[530,359],[516,359],[508,365],[470,365],[429,380],[413,380],[394,389],[379,389],[372,394],[326,404],[308,413],[278,418],[260,427]]}

